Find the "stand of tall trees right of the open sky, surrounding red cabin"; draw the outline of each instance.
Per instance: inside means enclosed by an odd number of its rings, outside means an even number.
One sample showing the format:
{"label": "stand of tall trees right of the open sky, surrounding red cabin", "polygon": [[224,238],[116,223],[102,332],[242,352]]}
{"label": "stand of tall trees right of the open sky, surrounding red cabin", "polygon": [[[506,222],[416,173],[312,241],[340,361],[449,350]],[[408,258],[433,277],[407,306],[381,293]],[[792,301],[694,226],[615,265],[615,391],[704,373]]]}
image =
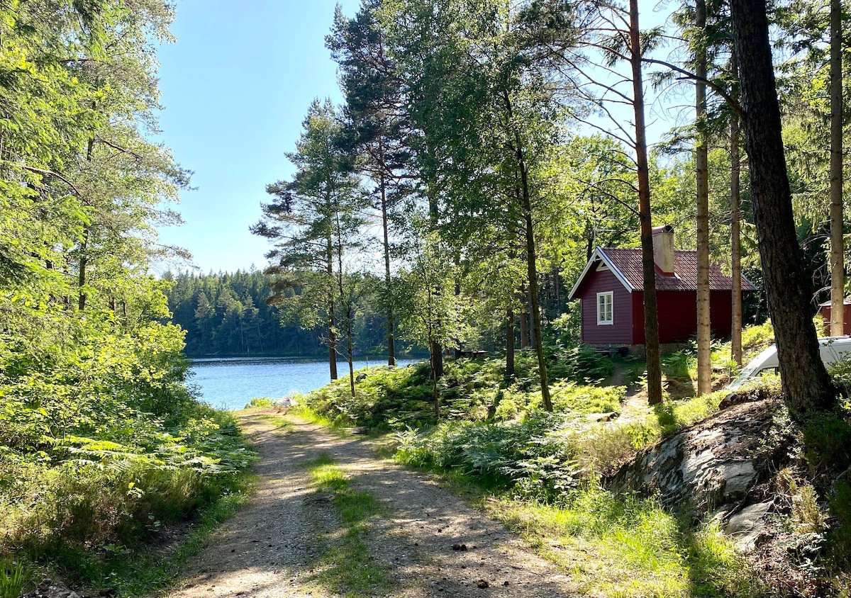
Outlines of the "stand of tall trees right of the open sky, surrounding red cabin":
{"label": "stand of tall trees right of the open sky, surrounding red cabin", "polygon": [[[444,354],[495,347],[511,376],[519,342],[538,356],[549,408],[542,339],[567,311],[567,289],[594,248],[641,248],[658,403],[651,230],[672,225],[677,248],[697,250],[700,393],[711,390],[709,271],[720,263],[760,291],[743,305],[734,289],[723,334],[733,360],[741,366],[743,323],[772,316],[780,339],[791,335],[782,360],[812,368],[787,373],[786,390],[802,410],[818,406],[829,391],[812,316],[830,300],[841,333],[845,288],[842,104],[831,104],[842,100],[831,59],[842,39],[826,6],[773,10],[770,40],[769,13],[748,9],[765,31],[742,37],[747,50],[726,4],[683,5],[649,29],[637,3],[338,9],[326,44],[345,101],[313,101],[287,154],[295,174],[267,185],[252,229],[271,242],[266,301],[316,332],[331,379],[332,356],[374,351],[358,346],[366,309],[383,316],[388,363],[399,339],[427,347],[435,380]],[[750,58],[757,40],[770,80],[740,81],[740,51]],[[766,93],[774,107],[748,105]],[[651,105],[678,126],[648,144]],[[757,127],[748,110],[774,120]]]}

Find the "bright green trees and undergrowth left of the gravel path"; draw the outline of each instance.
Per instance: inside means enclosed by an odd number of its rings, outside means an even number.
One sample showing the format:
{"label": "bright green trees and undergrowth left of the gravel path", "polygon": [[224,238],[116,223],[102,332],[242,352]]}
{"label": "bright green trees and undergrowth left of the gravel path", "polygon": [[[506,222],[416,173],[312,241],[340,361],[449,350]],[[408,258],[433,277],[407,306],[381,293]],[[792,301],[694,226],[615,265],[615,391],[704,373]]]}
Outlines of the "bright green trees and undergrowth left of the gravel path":
{"label": "bright green trees and undergrowth left of the gravel path", "polygon": [[187,390],[170,284],[151,273],[180,251],[157,226],[189,184],[151,141],[173,19],[160,0],[0,3],[4,597],[34,567],[112,591],[151,576],[140,546],[245,485],[251,453]]}

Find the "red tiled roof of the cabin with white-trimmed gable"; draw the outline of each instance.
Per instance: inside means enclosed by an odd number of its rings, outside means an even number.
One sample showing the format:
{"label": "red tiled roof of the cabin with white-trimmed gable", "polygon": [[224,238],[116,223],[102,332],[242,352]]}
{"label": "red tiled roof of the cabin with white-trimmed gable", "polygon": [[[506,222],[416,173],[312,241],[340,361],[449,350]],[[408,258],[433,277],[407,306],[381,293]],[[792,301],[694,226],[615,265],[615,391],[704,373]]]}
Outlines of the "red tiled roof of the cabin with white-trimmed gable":
{"label": "red tiled roof of the cabin with white-trimmed gable", "polygon": [[[585,271],[580,275],[570,298],[573,299],[579,290],[585,274],[591,269],[591,265],[601,260],[614,269],[614,275],[629,291],[640,291],[644,288],[642,274],[642,261],[640,248],[597,248],[591,256],[591,260],[585,265]],[[745,276],[741,277],[743,291],[756,291],[757,288],[751,284]],[[712,264],[709,271],[709,288],[712,291],[729,291],[733,287],[733,279],[725,276],[721,266]],[[657,291],[696,291],[697,290],[697,252],[677,251],[674,254],[674,274],[663,274],[656,267],[656,290]]]}

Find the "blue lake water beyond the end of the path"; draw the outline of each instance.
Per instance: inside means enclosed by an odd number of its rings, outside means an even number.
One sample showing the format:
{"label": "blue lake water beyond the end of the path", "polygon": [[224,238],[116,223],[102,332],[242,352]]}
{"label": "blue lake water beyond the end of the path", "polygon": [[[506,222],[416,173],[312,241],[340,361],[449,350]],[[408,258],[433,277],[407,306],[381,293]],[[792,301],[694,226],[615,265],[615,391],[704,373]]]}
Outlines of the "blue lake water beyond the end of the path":
{"label": "blue lake water beyond the end of the path", "polygon": [[[397,367],[420,360],[397,359]],[[356,361],[355,369],[386,364],[376,357]],[[201,399],[214,407],[242,409],[255,397],[279,399],[293,392],[306,393],[328,384],[328,362],[303,359],[224,359],[193,360],[190,382],[201,390]],[[346,362],[337,363],[340,378],[348,375]]]}

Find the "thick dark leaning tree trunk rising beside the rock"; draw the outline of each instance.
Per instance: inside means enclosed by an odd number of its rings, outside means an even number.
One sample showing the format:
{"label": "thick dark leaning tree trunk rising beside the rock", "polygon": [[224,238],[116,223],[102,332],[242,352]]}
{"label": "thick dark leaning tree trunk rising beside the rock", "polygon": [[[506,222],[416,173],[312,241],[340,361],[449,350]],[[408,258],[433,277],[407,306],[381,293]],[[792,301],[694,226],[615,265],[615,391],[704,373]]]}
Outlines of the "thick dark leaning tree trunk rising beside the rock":
{"label": "thick dark leaning tree trunk rising beside the rock", "polygon": [[809,315],[810,292],[795,234],[765,1],[731,0],[730,14],[768,310],[785,401],[801,417],[833,407],[836,396]]}

